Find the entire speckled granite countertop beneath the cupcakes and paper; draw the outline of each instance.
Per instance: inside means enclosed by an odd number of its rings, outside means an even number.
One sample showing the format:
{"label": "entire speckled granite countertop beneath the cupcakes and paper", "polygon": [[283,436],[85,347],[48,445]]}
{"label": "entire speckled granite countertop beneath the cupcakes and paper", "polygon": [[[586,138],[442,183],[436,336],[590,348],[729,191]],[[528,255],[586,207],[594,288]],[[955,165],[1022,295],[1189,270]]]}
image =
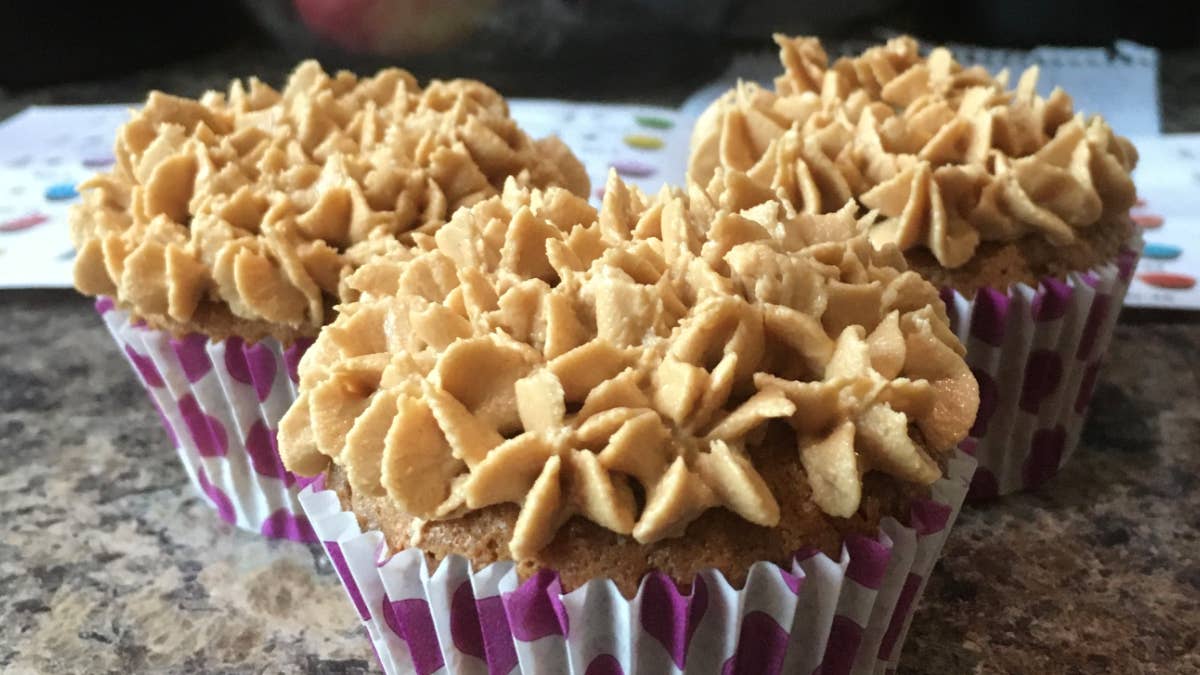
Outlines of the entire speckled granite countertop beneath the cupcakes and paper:
{"label": "entire speckled granite countertop beneath the cupcakes and paper", "polygon": [[[223,64],[114,86],[194,91]],[[1164,59],[1168,130],[1200,130],[1198,84],[1200,54]],[[0,325],[0,670],[377,670],[318,546],[193,492],[86,300],[2,292]],[[1126,313],[1081,446],[1039,492],[964,512],[902,673],[1200,673],[1200,317]]]}

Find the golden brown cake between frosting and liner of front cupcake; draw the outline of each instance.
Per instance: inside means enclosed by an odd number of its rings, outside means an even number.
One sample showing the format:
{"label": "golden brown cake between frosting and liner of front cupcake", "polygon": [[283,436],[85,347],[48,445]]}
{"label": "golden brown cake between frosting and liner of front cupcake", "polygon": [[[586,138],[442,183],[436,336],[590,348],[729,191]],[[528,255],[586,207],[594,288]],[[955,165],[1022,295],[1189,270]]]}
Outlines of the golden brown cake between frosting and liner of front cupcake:
{"label": "golden brown cake between frosting and liner of front cupcake", "polygon": [[[812,502],[812,490],[793,440],[782,430],[770,431],[755,458],[776,464],[763,476],[779,500],[776,525],[754,525],[731,510],[709,509],[688,526],[685,536],[642,544],[590,520],[572,518],[546,548],[520,561],[518,574],[528,579],[538,569],[554,569],[563,592],[590,579],[611,579],[625,597],[634,597],[650,569],[661,571],[686,590],[697,573],[716,568],[730,584],[740,587],[750,566],[758,561],[787,568],[791,556],[802,549],[820,550],[836,558],[846,536],[872,537],[887,516],[906,521],[912,501],[928,496],[924,486],[871,472],[863,477],[864,496],[858,512],[850,518],[830,516]],[[521,510],[517,504],[493,504],[452,520],[421,521],[386,496],[355,492],[346,473],[336,466],[326,485],[338,492],[347,510],[359,515],[365,528],[384,533],[390,550],[420,546],[430,569],[448,555],[464,556],[476,569],[512,558],[508,544]],[[410,534],[414,527],[420,530],[419,538]]]}

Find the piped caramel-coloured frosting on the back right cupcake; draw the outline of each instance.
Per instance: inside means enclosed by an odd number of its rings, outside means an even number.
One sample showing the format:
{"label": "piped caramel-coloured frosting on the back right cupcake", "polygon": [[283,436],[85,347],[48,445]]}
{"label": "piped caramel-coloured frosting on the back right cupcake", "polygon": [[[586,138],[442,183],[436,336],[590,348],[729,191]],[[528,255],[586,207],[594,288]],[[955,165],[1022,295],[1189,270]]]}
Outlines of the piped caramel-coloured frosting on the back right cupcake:
{"label": "piped caramel-coloured frosting on the back right cupcake", "polygon": [[1133,145],[1061,89],[1038,96],[1036,66],[1009,90],[1007,72],[944,48],[923,58],[911,37],[833,65],[816,38],[775,42],[775,90],[742,83],[704,112],[691,179],[744,171],[808,213],[856,198],[881,216],[872,241],[928,249],[946,268],[982,241],[1073,244],[1135,201]]}

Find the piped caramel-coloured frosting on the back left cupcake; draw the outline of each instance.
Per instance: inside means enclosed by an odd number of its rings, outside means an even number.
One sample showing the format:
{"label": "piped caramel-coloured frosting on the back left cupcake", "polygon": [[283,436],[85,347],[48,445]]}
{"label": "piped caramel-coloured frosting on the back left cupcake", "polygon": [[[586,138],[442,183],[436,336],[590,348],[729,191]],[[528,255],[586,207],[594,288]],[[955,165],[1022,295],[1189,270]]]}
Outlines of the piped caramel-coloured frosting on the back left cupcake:
{"label": "piped caramel-coloured frosting on the back left cupcake", "polygon": [[588,192],[565,145],[530,139],[479,82],[422,90],[401,70],[358,79],[314,61],[282,91],[154,92],[115,155],[71,213],[76,286],[178,323],[217,303],[316,333],[348,274],[506,177]]}

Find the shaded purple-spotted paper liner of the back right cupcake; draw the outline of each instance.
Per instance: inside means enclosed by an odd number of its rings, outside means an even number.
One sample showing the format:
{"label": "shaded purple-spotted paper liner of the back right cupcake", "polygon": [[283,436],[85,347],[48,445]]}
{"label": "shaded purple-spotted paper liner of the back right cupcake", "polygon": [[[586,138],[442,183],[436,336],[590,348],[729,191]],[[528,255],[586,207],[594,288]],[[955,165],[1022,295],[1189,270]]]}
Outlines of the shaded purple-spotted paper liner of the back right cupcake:
{"label": "shaded purple-spotted paper liner of the back right cupcake", "polygon": [[1033,489],[1075,452],[1117,313],[1141,253],[1033,288],[943,288],[950,325],[979,381],[979,413],[960,448],[979,460],[968,500]]}

